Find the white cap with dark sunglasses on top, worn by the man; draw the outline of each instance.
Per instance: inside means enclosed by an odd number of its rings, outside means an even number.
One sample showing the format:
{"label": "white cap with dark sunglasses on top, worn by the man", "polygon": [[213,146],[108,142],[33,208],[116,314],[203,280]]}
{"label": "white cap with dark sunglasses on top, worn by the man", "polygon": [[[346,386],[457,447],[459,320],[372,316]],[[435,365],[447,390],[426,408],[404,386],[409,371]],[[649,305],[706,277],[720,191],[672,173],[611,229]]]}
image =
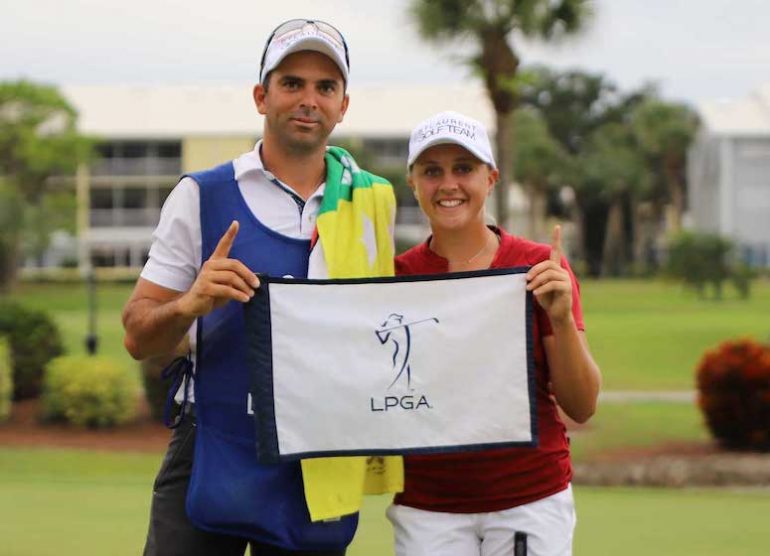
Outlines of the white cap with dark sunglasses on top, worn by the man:
{"label": "white cap with dark sunglasses on top, worn by the man", "polygon": [[323,21],[290,19],[276,27],[265,43],[259,67],[260,83],[286,56],[303,50],[314,50],[331,58],[339,66],[345,83],[348,82],[350,59],[342,33]]}

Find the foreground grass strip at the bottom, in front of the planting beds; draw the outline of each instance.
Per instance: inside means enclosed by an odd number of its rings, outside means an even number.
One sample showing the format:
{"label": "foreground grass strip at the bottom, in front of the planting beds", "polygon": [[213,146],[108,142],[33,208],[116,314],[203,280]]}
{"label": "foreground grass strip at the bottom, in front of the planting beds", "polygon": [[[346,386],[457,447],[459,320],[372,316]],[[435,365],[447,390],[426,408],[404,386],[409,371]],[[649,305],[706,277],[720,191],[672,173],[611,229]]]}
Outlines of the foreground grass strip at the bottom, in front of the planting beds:
{"label": "foreground grass strip at the bottom, in front of the planting beds", "polygon": [[[0,554],[141,553],[157,454],[0,447]],[[770,492],[576,488],[575,554],[767,553]],[[366,499],[349,556],[393,553],[387,496]]]}

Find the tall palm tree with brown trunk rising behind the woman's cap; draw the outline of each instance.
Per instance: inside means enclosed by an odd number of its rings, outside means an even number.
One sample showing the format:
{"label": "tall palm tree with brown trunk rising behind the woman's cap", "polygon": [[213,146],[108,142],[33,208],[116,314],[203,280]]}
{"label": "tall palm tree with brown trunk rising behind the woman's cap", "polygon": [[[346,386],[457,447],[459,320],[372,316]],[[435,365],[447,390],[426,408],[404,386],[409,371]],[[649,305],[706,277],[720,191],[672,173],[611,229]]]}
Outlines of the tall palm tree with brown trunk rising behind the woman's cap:
{"label": "tall palm tree with brown trunk rising behind the woman's cap", "polygon": [[514,134],[511,114],[518,103],[519,56],[514,34],[555,39],[579,31],[591,15],[591,0],[412,0],[409,12],[428,41],[471,41],[466,62],[482,76],[495,110],[497,162],[502,187],[496,188],[497,219],[508,223]]}

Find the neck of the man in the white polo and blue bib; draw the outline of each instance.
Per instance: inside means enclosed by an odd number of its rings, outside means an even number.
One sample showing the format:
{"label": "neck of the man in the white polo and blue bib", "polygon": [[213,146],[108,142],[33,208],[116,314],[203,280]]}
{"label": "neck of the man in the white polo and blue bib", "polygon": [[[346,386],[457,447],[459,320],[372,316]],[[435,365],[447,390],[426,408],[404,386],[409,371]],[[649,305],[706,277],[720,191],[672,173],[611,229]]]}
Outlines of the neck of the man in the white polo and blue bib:
{"label": "neck of the man in the white polo and blue bib", "polygon": [[293,153],[269,139],[262,140],[260,156],[265,170],[307,200],[326,178],[324,147],[309,153]]}

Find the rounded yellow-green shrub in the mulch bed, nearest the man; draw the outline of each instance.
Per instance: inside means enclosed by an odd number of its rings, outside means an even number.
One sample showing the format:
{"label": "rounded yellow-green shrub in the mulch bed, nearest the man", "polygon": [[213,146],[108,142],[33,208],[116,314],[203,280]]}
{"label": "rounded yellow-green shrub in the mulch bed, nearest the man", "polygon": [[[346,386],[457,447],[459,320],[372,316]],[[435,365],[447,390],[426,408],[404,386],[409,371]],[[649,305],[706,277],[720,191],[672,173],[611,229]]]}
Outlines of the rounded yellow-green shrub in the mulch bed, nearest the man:
{"label": "rounded yellow-green shrub in the mulch bed, nearest the man", "polygon": [[103,357],[58,357],[46,369],[43,417],[77,426],[110,427],[136,416],[138,385]]}

